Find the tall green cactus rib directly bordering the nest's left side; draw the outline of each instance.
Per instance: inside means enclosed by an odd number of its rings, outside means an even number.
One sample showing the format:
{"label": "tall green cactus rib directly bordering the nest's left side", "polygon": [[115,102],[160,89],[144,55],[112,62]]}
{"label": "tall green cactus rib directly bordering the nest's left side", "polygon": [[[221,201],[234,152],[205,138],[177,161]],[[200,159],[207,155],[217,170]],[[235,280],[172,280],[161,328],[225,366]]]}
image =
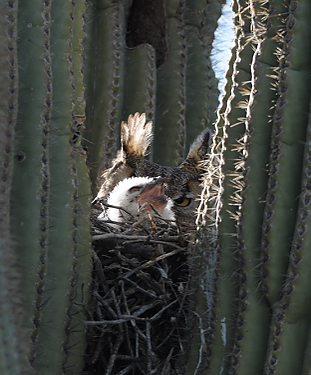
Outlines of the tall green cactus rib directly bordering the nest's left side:
{"label": "tall green cactus rib directly bordering the nest's left side", "polygon": [[77,373],[83,368],[85,317],[81,294],[87,298],[90,272],[89,183],[78,140],[81,124],[77,118],[81,119],[83,113],[83,103],[78,101],[83,98],[81,60],[79,63],[73,58],[73,52],[80,59],[82,55],[81,44],[78,47],[73,38],[77,28],[83,29],[83,11],[83,2],[63,1],[54,1],[51,10],[55,105],[49,133],[49,251],[36,353],[41,374],[69,369]]}

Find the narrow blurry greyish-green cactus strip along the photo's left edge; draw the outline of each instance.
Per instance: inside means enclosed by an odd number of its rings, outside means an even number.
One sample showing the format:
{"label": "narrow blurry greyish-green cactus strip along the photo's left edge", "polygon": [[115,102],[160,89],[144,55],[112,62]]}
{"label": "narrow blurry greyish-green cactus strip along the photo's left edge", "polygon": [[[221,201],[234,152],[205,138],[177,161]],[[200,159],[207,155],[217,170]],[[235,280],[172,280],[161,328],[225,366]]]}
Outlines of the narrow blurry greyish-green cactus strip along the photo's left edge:
{"label": "narrow blurry greyish-green cactus strip along the photo's left edge", "polygon": [[0,2],[0,373],[27,373],[23,360],[16,254],[9,231],[9,196],[17,116],[17,1]]}

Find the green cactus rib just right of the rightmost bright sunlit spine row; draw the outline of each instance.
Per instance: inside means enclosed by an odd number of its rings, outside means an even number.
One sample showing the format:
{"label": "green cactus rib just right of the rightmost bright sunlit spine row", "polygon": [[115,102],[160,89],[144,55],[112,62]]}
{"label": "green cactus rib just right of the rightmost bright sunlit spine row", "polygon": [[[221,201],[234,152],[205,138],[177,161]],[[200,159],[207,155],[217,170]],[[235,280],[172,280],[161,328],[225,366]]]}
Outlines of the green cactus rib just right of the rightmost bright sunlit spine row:
{"label": "green cactus rib just right of the rightmost bright sunlit spine row", "polygon": [[[273,38],[282,26],[286,11],[284,2],[252,3],[252,43],[254,55],[251,65],[251,93],[248,100],[245,149],[240,173],[244,187],[240,193],[242,204],[238,219],[239,249],[239,304],[231,368],[239,374],[262,374],[269,336],[270,310],[258,287],[254,270],[259,267],[262,220],[268,180],[267,164],[273,114],[271,103],[276,100],[272,90],[272,68],[277,65],[273,54],[278,43]],[[263,17],[263,20],[261,20]],[[243,145],[242,143],[242,145]],[[243,149],[243,147],[242,147]],[[243,355],[241,355],[243,353]]]}

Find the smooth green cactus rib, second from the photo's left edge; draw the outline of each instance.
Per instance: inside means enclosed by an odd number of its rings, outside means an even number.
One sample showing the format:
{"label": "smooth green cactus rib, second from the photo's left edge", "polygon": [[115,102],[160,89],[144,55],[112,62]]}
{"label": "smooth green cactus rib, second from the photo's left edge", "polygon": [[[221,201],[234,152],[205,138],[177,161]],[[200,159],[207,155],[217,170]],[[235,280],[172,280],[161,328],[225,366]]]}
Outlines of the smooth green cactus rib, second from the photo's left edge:
{"label": "smooth green cactus rib, second from the photo's left edge", "polygon": [[21,326],[34,365],[46,276],[49,212],[48,133],[52,83],[49,2],[19,4],[19,97],[15,162],[10,200],[10,226],[20,265]]}

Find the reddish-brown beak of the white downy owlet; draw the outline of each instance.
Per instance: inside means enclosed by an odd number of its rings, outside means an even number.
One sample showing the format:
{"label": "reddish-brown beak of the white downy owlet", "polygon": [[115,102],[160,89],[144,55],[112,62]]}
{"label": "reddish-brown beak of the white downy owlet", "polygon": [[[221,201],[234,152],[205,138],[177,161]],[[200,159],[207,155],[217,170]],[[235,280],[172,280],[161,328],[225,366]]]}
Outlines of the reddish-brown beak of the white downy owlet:
{"label": "reddish-brown beak of the white downy owlet", "polygon": [[164,182],[164,178],[158,177],[155,181],[145,186],[137,198],[141,206],[144,205],[144,210],[163,212],[167,204],[167,199],[164,195]]}

